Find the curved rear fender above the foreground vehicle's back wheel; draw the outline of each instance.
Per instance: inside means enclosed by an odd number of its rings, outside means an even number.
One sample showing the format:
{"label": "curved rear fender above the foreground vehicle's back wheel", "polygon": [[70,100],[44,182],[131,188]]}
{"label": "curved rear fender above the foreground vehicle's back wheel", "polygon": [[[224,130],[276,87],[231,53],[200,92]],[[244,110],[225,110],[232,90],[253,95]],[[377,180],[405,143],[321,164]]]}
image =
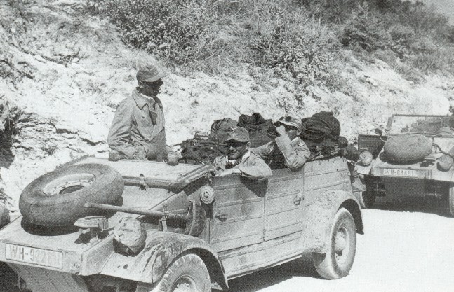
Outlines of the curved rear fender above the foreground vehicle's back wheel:
{"label": "curved rear fender above the foreground vehicle's back wheel", "polygon": [[363,217],[361,207],[356,198],[343,190],[327,190],[305,207],[306,225],[303,235],[304,251],[326,253],[330,242],[331,226],[334,216],[340,208],[347,209],[352,214],[356,231],[363,232]]}

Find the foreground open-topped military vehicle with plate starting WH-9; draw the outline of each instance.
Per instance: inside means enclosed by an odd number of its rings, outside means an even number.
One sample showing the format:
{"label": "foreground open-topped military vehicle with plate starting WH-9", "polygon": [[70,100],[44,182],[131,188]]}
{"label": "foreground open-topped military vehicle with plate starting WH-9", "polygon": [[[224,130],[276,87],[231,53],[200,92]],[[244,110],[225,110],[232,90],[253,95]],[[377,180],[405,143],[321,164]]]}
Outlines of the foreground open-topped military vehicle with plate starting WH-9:
{"label": "foreground open-topped military vehicle with plate starting WH-9", "polygon": [[0,230],[0,262],[33,292],[228,291],[229,279],[303,253],[338,279],[363,232],[339,155],[267,181],[84,157],[30,183],[20,210]]}

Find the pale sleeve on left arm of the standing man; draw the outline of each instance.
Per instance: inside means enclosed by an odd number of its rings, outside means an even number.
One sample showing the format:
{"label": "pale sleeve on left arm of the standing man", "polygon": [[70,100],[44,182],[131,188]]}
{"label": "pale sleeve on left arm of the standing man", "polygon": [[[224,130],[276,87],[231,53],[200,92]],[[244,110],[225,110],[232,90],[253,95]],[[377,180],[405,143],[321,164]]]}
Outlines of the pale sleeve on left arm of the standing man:
{"label": "pale sleeve on left arm of the standing man", "polygon": [[138,155],[135,147],[129,144],[129,137],[131,136],[131,118],[133,116],[133,109],[126,101],[122,101],[116,106],[116,113],[112,126],[109,130],[107,137],[107,144],[112,150],[118,151],[126,155],[128,159],[134,159]]}

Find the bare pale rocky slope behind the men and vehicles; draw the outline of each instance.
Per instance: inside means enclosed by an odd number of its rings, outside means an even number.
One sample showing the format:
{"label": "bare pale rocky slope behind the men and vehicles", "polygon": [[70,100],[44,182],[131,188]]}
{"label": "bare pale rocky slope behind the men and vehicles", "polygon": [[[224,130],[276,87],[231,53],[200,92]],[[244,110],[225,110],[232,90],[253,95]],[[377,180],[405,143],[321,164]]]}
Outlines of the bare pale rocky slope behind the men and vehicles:
{"label": "bare pale rocky slope behind the men and vehicles", "polygon": [[[85,1],[0,2],[0,197],[16,211],[21,190],[36,177],[81,155],[107,156],[107,132],[116,104],[135,87],[142,64],[159,60],[123,43],[105,19],[81,14]],[[286,81],[269,72],[250,76],[239,68],[228,76],[169,67],[161,92],[168,144],[215,119],[260,112],[309,116],[333,111],[342,134],[385,125],[392,113],[448,114],[452,76],[406,81],[385,62],[365,63],[348,50],[341,74],[351,92],[310,86],[293,97]]]}

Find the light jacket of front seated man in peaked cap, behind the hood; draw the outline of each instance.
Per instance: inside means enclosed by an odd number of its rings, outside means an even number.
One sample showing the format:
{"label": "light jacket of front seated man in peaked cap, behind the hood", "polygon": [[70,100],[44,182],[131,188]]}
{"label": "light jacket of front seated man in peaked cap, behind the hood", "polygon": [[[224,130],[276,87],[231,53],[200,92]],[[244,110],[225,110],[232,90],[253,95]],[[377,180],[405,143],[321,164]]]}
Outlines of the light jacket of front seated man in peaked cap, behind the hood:
{"label": "light jacket of front seated man in peaked cap, behind the hood", "polygon": [[[218,156],[213,161],[213,165],[215,165],[217,171],[224,171],[229,169],[229,160],[227,156]],[[248,179],[262,181],[271,176],[269,166],[260,156],[251,151],[243,155],[241,161],[232,168],[238,168],[241,171],[240,175]]]}

